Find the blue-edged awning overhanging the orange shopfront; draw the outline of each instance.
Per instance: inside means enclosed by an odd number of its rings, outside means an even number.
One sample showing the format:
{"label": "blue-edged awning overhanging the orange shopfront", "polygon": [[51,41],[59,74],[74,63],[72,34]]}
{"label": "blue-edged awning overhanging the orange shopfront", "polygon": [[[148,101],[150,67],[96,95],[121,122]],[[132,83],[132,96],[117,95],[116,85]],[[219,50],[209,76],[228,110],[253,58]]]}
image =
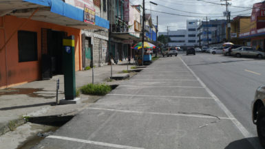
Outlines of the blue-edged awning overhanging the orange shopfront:
{"label": "blue-edged awning overhanging the orange shopfront", "polygon": [[109,29],[109,21],[95,17],[95,25],[83,22],[83,10],[60,0],[8,0],[0,1],[0,16],[10,14],[28,18],[36,10],[32,20],[54,23],[78,29]]}

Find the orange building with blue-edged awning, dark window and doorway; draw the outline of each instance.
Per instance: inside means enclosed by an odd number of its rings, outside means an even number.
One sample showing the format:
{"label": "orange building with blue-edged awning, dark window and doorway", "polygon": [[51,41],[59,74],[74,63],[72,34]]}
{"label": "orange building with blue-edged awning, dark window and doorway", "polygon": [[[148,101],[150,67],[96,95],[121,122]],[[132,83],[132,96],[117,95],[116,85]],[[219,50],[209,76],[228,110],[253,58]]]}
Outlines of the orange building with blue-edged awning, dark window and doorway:
{"label": "orange building with blue-edged awning, dark window and doorway", "polygon": [[56,0],[0,5],[0,88],[63,74],[63,38],[74,35],[75,69],[82,70],[83,10]]}

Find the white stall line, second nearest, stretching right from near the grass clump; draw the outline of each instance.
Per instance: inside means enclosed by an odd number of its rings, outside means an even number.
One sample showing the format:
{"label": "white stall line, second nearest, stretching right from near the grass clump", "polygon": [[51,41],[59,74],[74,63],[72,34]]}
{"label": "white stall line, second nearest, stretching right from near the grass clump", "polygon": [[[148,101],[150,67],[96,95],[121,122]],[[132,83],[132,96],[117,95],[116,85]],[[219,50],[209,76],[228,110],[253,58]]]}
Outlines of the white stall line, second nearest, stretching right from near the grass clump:
{"label": "white stall line, second nearest, stretching right from near the grass clump", "polygon": [[[149,114],[149,115],[169,115],[169,116],[182,116],[182,117],[200,117],[200,118],[207,118],[207,119],[216,119],[215,116],[210,115],[203,115],[200,113],[189,114],[189,113],[156,113],[156,112],[143,112],[143,111],[129,111],[129,110],[117,110],[117,109],[110,109],[110,108],[87,108],[91,110],[100,110],[100,111],[113,111],[113,112],[120,112],[120,113],[137,113],[137,114]],[[219,117],[220,119],[228,119],[231,120],[229,117]]]}

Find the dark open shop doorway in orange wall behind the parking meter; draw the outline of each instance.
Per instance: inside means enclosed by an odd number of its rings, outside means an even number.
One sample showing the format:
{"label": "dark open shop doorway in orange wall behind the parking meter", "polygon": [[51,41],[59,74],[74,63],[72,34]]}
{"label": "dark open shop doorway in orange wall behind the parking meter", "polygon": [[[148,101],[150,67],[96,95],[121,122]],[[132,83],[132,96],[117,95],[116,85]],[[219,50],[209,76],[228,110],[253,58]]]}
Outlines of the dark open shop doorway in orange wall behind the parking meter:
{"label": "dark open shop doorway in orange wall behind the parking meter", "polygon": [[66,32],[43,28],[41,30],[41,66],[42,79],[63,74],[63,38]]}

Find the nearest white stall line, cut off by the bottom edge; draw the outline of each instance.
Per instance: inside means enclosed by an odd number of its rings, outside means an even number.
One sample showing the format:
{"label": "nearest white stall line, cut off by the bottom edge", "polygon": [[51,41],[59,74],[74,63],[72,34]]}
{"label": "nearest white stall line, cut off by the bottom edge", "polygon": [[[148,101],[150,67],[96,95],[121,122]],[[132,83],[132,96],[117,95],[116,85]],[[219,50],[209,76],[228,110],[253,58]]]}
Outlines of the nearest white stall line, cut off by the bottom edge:
{"label": "nearest white stall line, cut off by the bottom edge", "polygon": [[122,145],[118,145],[118,144],[108,144],[108,143],[104,143],[104,142],[100,142],[100,141],[89,141],[89,140],[85,140],[85,139],[76,139],[76,138],[72,138],[72,137],[62,137],[62,136],[56,136],[56,135],[49,135],[46,138],[50,138],[50,139],[63,139],[66,141],[76,141],[76,142],[80,142],[83,144],[93,144],[96,146],[107,146],[110,148],[124,148],[124,149],[145,149],[145,148],[136,148],[136,147],[132,147],[132,146],[122,146]]}

